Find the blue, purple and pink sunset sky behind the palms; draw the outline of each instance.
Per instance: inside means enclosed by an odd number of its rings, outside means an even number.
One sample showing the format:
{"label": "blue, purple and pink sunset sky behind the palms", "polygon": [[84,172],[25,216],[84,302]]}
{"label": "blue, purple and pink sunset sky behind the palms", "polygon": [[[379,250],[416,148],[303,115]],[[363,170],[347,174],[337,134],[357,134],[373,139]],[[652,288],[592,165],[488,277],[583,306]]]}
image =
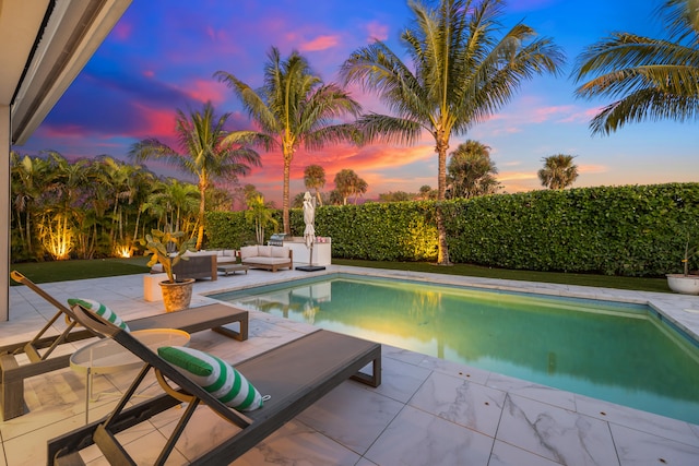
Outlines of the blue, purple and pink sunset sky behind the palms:
{"label": "blue, purple and pink sunset sky behind the palms", "polygon": [[[505,192],[542,189],[536,171],[554,154],[576,156],[576,187],[699,181],[699,127],[696,122],[648,122],[608,136],[592,136],[589,121],[608,101],[574,97],[572,65],[584,46],[612,32],[663,37],[660,0],[510,0],[502,19],[508,28],[523,22],[562,48],[560,76],[524,82],[517,97],[489,121],[452,138],[451,148],[472,139],[491,147]],[[134,0],[21,154],[55,150],[69,159],[107,154],[128,160],[134,142],[157,138],[175,145],[176,109],[199,110],[211,100],[217,113],[232,112],[230,130],[249,129],[233,92],[213,77],[223,70],[262,84],[272,46],[286,58],[300,51],[323,81],[337,81],[340,64],[358,47],[384,40],[403,55],[399,36],[410,22],[405,0]],[[376,94],[350,89],[365,110],[384,110]],[[241,179],[281,206],[282,157],[264,153],[262,168]],[[366,199],[389,191],[417,192],[437,187],[434,140],[415,146],[329,146],[296,153],[291,195],[305,190],[303,171],[317,164],[328,183],[351,168],[368,183]],[[152,170],[176,176],[156,162]],[[180,178],[182,178],[180,176]]]}

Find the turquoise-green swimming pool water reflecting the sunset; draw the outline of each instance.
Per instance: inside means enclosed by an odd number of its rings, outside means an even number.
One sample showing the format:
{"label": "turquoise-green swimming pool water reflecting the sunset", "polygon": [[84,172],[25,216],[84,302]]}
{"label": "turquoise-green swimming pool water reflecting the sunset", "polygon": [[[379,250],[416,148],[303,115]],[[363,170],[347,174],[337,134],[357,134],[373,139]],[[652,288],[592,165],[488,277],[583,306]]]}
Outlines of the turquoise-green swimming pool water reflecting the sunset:
{"label": "turquoise-green swimming pool water reflecting the sunset", "polygon": [[699,423],[699,345],[647,306],[345,274],[213,297]]}

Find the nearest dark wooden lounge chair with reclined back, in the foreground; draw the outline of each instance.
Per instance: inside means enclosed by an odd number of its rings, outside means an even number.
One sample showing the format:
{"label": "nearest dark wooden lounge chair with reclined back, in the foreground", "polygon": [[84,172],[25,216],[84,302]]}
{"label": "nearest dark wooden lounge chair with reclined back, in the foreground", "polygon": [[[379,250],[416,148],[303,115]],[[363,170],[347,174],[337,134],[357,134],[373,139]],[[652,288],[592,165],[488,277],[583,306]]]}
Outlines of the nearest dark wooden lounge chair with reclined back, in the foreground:
{"label": "nearest dark wooden lounge chair with reclined back, in the foreground", "polygon": [[[352,378],[371,386],[381,383],[381,345],[319,330],[236,365],[236,369],[260,393],[271,396],[261,408],[242,415],[223,405],[129,333],[92,311],[74,308],[74,312],[83,325],[114,338],[143,359],[144,366],[114,411],[105,419],[48,442],[49,465],[84,464],[79,452],[93,443],[99,447],[109,464],[137,464],[116,434],[182,402],[188,405],[182,409],[181,418],[155,464],[166,462],[200,404],[209,406],[240,430],[192,459],[191,464],[229,464],[343,381]],[[369,363],[372,363],[371,375],[358,372]],[[155,371],[165,394],[126,408],[151,369]],[[167,380],[179,389],[173,389]],[[201,426],[198,428],[202,429]]]}

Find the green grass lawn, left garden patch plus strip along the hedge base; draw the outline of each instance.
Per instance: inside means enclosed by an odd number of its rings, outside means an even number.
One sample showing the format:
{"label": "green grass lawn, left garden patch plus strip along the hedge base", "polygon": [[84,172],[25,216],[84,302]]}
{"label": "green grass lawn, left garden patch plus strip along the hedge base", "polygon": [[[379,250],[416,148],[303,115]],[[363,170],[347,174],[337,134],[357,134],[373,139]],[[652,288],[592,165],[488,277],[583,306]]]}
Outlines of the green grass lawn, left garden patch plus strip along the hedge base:
{"label": "green grass lawn, left garden patch plus strip along the hedge base", "polygon": [[[135,256],[131,259],[95,259],[38,263],[32,262],[10,264],[10,268],[20,271],[34,283],[49,283],[117,275],[143,274],[149,272],[149,267],[146,267],[145,265],[147,263],[147,260],[149,258]],[[333,264],[354,265],[371,268],[391,268],[412,272],[429,272],[450,275],[465,275],[486,278],[503,278],[514,280],[556,283],[565,285],[633,289],[639,291],[672,292],[667,287],[667,282],[665,278],[635,278],[593,274],[511,271],[505,268],[490,268],[466,264],[439,266],[427,262],[381,262],[333,259]],[[11,285],[15,285],[15,283],[12,282]]]}

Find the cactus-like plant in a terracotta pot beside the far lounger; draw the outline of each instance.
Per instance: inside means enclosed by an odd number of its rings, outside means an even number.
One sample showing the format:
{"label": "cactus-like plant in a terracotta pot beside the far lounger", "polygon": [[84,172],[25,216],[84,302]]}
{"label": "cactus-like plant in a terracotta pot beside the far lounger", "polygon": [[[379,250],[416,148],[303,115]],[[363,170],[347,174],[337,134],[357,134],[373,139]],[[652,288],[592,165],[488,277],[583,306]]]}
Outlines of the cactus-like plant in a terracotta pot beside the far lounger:
{"label": "cactus-like plant in a terracotta pot beside the far lounger", "polygon": [[[173,266],[175,266],[175,264],[179,261],[189,260],[185,253],[187,251],[194,251],[194,239],[190,238],[182,241],[183,236],[183,231],[173,232],[171,228],[168,227],[165,231],[153,229],[151,230],[151,235],[146,235],[145,239],[141,240],[141,244],[145,247],[143,255],[152,254],[147,266],[152,267],[156,263],[159,263],[163,265],[163,272],[167,274],[167,280],[159,283],[165,311],[167,312],[181,311],[182,309],[189,308],[192,298],[194,279],[177,279],[173,273]],[[174,244],[176,250],[168,252],[168,244]]]}

